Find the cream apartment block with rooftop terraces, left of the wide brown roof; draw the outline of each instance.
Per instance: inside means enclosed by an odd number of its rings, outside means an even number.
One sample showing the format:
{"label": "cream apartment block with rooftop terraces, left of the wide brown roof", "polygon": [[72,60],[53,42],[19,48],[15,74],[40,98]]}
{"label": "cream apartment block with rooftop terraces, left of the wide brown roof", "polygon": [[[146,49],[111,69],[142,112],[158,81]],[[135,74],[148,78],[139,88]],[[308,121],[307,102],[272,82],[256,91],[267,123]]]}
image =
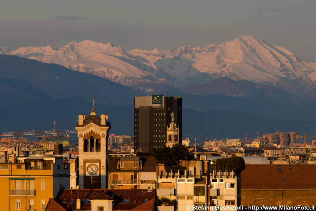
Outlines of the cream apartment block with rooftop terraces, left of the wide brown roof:
{"label": "cream apartment block with rooftop terraces, left of the wide brown roof", "polygon": [[211,160],[184,161],[188,170],[165,170],[158,166],[157,197],[177,200],[178,210],[186,206],[239,206],[240,176],[234,171],[210,171]]}

